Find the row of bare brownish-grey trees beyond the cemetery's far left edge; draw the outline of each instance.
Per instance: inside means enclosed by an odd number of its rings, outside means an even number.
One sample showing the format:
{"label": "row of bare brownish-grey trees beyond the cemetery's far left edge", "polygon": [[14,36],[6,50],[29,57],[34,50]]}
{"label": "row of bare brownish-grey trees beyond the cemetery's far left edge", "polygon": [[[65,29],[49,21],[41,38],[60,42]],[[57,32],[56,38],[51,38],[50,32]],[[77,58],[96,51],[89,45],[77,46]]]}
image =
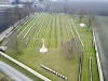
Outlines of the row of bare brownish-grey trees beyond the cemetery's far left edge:
{"label": "row of bare brownish-grey trees beyond the cemetery's far left edge", "polygon": [[23,6],[15,5],[14,8],[6,9],[4,12],[5,17],[5,24],[8,26],[14,26],[16,22],[21,22],[22,18],[25,18],[26,16],[29,16],[31,13],[33,13],[33,8],[31,6],[31,3],[25,3]]}

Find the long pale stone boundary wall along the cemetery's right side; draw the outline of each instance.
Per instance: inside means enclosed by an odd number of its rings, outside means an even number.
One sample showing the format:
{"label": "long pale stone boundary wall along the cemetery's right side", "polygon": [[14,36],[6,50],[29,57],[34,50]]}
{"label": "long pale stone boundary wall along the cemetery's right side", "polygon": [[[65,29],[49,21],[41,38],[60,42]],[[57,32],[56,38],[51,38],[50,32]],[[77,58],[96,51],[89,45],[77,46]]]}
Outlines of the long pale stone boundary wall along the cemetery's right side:
{"label": "long pale stone boundary wall along the cemetery's right side", "polygon": [[93,44],[94,44],[94,48],[95,48],[97,66],[98,66],[99,81],[104,81],[104,76],[103,76],[103,70],[102,70],[102,65],[100,65],[100,59],[99,59],[99,53],[98,53],[96,37],[95,37],[95,32],[94,32],[93,29],[92,29],[92,31],[93,31]]}

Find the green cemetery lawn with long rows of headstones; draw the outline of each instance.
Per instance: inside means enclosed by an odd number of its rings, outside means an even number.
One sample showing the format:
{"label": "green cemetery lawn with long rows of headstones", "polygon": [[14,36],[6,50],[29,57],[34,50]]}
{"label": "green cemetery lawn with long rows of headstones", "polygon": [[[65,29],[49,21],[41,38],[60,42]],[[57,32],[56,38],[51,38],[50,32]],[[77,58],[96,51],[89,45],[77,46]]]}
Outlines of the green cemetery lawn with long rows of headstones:
{"label": "green cemetery lawn with long rows of headstones", "polygon": [[[48,53],[39,52],[41,39],[44,39]],[[79,49],[72,41],[75,39]],[[21,24],[1,45],[9,46],[6,54],[52,81],[64,81],[64,79],[42,69],[40,65],[66,76],[66,81],[78,81],[80,66],[80,53],[78,51],[80,50],[83,52],[82,81],[90,80],[89,57],[92,57],[93,81],[99,81],[92,39],[92,30],[81,28],[78,19],[70,15],[36,13]],[[71,58],[64,48],[69,40],[71,40],[73,50]],[[1,59],[3,60],[3,58]]]}

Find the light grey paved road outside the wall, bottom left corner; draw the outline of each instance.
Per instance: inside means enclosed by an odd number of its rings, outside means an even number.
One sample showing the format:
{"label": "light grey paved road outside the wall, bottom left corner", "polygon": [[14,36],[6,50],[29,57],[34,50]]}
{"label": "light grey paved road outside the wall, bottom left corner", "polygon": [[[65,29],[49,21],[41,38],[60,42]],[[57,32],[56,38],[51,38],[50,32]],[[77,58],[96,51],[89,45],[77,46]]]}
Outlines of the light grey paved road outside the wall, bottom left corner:
{"label": "light grey paved road outside the wall, bottom left corner", "polygon": [[27,78],[26,76],[1,60],[0,70],[3,71],[10,78],[12,78],[14,81],[32,81],[31,79]]}

